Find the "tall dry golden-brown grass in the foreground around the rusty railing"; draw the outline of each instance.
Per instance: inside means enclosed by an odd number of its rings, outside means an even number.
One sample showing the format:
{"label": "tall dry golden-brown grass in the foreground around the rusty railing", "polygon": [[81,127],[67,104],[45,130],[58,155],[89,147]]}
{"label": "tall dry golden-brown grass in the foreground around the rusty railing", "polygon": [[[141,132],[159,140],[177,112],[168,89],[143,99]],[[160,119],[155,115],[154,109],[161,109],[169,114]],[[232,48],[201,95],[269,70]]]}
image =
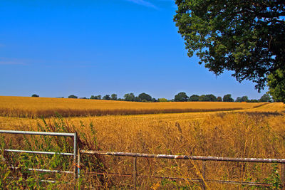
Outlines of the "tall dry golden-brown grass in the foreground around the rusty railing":
{"label": "tall dry golden-brown grass in the foreground around the rusty railing", "polygon": [[[199,117],[202,115],[202,117]],[[5,120],[6,117],[1,117]],[[1,121],[0,120],[0,121]],[[285,157],[285,117],[281,112],[247,112],[219,114],[165,114],[103,117],[68,117],[60,120],[9,118],[2,129],[53,131],[61,123],[70,132],[77,131],[81,149],[153,154],[187,154],[217,157]],[[6,123],[6,125],[4,125]],[[31,141],[32,142],[32,141]],[[19,141],[17,141],[18,144]],[[90,160],[93,159],[93,162]],[[93,172],[132,173],[132,159],[125,157],[88,157],[83,162],[95,162]],[[84,161],[85,160],[85,161]],[[142,189],[199,189],[199,184],[187,181],[152,179],[150,176],[180,176],[199,178],[201,162],[167,159],[138,159],[138,182]],[[208,179],[263,181],[272,174],[271,164],[207,162]],[[88,173],[86,184],[100,188],[112,186],[130,188],[130,177],[94,177]],[[241,186],[207,184],[212,189],[234,189]]]}

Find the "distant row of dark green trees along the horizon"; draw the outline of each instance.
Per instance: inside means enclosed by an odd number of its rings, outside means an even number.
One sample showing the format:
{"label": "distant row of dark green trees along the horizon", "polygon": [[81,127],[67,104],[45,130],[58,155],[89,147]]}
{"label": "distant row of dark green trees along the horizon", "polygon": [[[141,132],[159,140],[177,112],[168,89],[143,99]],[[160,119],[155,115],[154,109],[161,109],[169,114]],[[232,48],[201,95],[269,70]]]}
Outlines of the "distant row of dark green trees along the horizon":
{"label": "distant row of dark green trees along the horizon", "polygon": [[[38,95],[32,95],[33,97],[38,97]],[[68,98],[78,98],[76,95],[69,95]],[[155,99],[148,95],[147,93],[141,93],[138,96],[135,96],[133,93],[125,94],[123,98],[118,98],[118,95],[91,95],[90,98],[79,97],[81,99],[93,99],[93,100],[119,100],[119,101],[129,101],[129,102],[271,102],[271,97],[268,94],[264,94],[260,97],[259,100],[249,100],[249,98],[244,95],[243,97],[237,97],[236,100],[232,98],[232,95],[227,94],[223,97],[215,95],[191,95],[187,96],[186,93],[181,92],[175,95],[174,99],[167,100],[166,98]]]}

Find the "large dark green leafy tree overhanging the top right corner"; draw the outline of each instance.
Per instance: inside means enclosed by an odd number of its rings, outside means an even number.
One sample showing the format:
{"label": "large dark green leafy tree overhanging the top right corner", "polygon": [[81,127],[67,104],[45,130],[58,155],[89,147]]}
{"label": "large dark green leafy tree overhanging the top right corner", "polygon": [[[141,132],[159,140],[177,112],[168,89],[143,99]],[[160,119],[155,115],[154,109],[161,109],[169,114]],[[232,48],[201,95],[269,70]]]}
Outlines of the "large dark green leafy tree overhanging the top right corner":
{"label": "large dark green leafy tree overhanging the top right corner", "polygon": [[[285,63],[285,1],[176,0],[174,17],[193,53],[219,75],[232,70],[239,82],[252,80],[264,88],[270,73]],[[274,85],[273,85],[274,86]]]}

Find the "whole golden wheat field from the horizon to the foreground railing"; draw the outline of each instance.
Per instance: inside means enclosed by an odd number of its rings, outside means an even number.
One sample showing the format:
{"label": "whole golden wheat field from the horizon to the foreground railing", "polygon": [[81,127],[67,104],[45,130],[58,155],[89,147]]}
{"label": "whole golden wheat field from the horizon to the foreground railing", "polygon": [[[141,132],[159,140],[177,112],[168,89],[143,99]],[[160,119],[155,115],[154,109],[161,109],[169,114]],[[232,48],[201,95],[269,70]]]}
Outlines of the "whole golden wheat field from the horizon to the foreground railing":
{"label": "whole golden wheat field from the horizon to the foreground railing", "polygon": [[[217,157],[285,158],[285,117],[283,103],[228,102],[117,102],[104,100],[68,100],[56,98],[0,97],[0,109],[8,109],[0,117],[1,130],[46,130],[78,132],[81,149],[152,154],[186,154]],[[136,115],[103,115],[85,117],[40,118],[41,110],[160,110],[160,114],[135,112]],[[161,110],[185,110],[163,113]],[[16,114],[12,110],[16,110]],[[192,110],[187,112],[187,110]],[[193,110],[196,110],[195,112]],[[204,112],[202,111],[204,110]],[[20,112],[29,112],[23,117]],[[149,112],[148,112],[149,113]],[[138,115],[140,114],[140,115]],[[13,116],[13,117],[11,117]],[[21,117],[19,117],[21,116]],[[6,139],[8,143],[11,138]],[[13,141],[13,140],[12,140]],[[32,137],[17,137],[13,146],[28,142],[37,147]],[[53,142],[56,143],[56,142]],[[72,144],[72,142],[70,142]],[[34,144],[34,145],[33,145]],[[48,144],[52,144],[49,142]],[[48,145],[45,145],[48,146]],[[43,146],[44,147],[44,146]],[[36,148],[35,148],[36,149]],[[132,178],[95,177],[85,171],[131,174],[128,157],[96,157],[83,155],[84,183],[94,189],[133,188]],[[92,164],[100,161],[100,167]],[[194,181],[156,179],[151,176],[199,178],[201,162],[167,159],[138,159],[140,189],[201,189]],[[278,178],[271,164],[208,162],[207,178],[236,181],[274,181]],[[280,171],[280,166],[276,168]],[[279,176],[280,177],[280,176]],[[207,184],[209,189],[243,189],[247,186]]]}

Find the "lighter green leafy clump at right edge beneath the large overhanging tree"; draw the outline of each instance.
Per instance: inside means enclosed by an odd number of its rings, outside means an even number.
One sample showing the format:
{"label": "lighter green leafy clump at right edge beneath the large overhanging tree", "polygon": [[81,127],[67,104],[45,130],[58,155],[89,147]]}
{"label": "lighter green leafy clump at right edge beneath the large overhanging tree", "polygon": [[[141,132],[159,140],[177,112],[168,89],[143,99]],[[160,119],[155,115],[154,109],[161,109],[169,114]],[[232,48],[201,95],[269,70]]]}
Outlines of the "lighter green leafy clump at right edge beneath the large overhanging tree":
{"label": "lighter green leafy clump at right edge beneath the large overhanging tree", "polygon": [[274,102],[285,103],[285,68],[280,68],[268,76],[269,94]]}

